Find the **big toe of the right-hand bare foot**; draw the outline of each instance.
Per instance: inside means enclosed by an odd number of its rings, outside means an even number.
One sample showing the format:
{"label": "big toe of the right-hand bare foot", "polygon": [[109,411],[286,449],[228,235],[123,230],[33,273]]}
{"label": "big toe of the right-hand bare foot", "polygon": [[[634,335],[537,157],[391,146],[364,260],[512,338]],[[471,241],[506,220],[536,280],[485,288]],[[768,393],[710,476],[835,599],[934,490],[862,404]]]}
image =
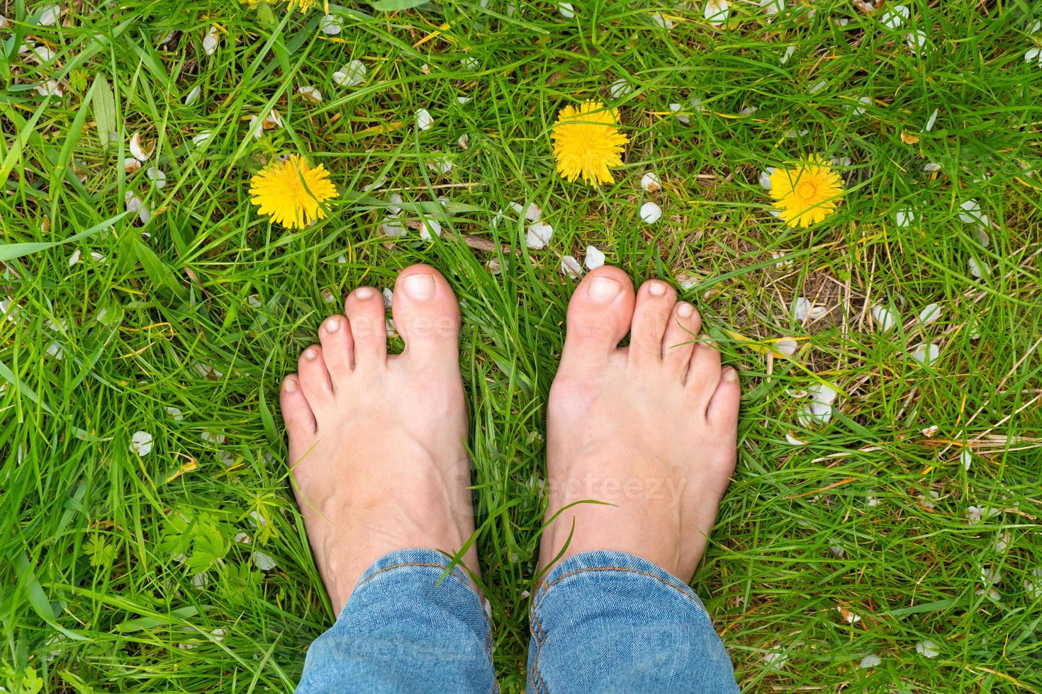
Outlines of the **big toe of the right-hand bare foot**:
{"label": "big toe of the right-hand bare foot", "polygon": [[601,357],[619,345],[634,315],[634,283],[602,265],[579,282],[568,303],[565,356]]}

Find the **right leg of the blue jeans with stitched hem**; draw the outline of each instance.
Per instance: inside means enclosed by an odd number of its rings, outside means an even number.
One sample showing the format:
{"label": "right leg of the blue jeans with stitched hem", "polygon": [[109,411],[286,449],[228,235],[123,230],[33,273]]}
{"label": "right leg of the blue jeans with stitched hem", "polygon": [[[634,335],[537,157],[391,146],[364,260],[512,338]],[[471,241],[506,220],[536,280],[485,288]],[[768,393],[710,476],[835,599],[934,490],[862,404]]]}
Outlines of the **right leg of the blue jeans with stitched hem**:
{"label": "right leg of the blue jeans with stitched hem", "polygon": [[529,616],[530,692],[738,692],[701,600],[640,557],[569,557],[546,576]]}

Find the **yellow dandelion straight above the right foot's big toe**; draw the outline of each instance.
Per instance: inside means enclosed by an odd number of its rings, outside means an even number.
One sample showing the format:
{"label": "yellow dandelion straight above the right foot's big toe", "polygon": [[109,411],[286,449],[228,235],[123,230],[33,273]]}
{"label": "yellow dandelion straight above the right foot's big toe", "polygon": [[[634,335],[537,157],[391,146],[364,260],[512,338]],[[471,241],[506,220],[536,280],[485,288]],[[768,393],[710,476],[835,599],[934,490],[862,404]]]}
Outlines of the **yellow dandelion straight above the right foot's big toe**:
{"label": "yellow dandelion straight above the right foot's big toe", "polygon": [[619,132],[618,120],[618,109],[596,101],[561,109],[552,138],[562,178],[574,181],[582,176],[591,185],[615,182],[609,168],[622,164],[622,148],[629,142]]}

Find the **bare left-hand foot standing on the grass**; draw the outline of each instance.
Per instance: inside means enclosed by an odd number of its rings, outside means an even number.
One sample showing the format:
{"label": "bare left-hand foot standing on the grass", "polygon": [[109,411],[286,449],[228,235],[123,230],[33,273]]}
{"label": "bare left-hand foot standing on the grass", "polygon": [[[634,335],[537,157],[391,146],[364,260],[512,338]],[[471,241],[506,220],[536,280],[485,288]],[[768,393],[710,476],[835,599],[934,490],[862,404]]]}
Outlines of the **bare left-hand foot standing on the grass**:
{"label": "bare left-hand foot standing on the grass", "polygon": [[[290,465],[307,538],[338,613],[362,573],[395,549],[455,552],[474,531],[460,308],[427,265],[398,276],[387,353],[383,298],[358,287],[321,345],[282,383]],[[477,571],[473,547],[464,558]]]}

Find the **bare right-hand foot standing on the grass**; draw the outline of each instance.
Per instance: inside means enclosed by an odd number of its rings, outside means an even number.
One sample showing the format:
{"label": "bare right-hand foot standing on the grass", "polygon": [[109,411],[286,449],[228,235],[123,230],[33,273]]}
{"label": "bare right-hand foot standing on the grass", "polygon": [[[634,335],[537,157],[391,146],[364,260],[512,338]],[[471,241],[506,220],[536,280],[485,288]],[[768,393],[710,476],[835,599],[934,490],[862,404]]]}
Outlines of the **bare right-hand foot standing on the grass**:
{"label": "bare right-hand foot standing on the grass", "polygon": [[[636,304],[636,307],[635,307]],[[690,581],[735,469],[739,384],[720,353],[694,344],[691,304],[665,282],[637,297],[618,267],[586,276],[568,306],[561,367],[550,388],[546,566],[575,531],[565,557],[614,549]],[[629,333],[629,346],[618,346]]]}

